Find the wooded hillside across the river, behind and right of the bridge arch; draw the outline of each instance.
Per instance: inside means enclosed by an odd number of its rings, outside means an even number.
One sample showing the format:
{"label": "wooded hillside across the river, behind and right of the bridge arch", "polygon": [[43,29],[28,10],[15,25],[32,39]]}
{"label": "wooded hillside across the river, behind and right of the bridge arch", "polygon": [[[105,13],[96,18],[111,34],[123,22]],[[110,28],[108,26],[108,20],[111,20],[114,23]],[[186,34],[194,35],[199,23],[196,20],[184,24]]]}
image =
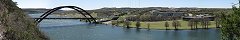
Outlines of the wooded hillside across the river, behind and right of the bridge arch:
{"label": "wooded hillside across the river, behind and right of the bridge arch", "polygon": [[[155,10],[155,11],[154,11]],[[194,13],[194,14],[213,14],[219,11],[230,11],[231,8],[168,8],[168,7],[147,7],[147,8],[101,8],[95,10],[86,10],[94,17],[108,18],[113,17],[114,15],[128,13],[128,15],[136,14],[164,14],[166,16],[170,13],[181,13],[181,15]],[[61,15],[70,15],[70,16],[79,16],[76,15],[78,12],[74,10],[62,11]]]}

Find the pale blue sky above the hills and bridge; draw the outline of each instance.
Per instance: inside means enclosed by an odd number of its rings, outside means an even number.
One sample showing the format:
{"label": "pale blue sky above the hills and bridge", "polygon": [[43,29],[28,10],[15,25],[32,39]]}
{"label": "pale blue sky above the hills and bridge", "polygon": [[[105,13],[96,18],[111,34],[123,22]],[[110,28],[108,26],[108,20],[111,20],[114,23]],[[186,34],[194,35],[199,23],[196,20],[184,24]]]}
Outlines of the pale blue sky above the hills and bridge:
{"label": "pale blue sky above the hills and bridge", "polygon": [[78,6],[86,10],[104,7],[198,7],[231,8],[238,0],[13,0],[20,8],[54,8]]}

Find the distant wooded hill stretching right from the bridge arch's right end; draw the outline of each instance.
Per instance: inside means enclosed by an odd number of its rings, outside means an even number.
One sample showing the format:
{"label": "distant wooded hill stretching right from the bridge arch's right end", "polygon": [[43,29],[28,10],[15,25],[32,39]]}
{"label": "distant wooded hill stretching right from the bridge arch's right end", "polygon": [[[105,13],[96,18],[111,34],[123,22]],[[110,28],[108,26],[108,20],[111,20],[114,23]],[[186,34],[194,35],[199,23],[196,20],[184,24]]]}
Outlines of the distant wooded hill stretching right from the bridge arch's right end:
{"label": "distant wooded hill stretching right from the bridge arch's right end", "polygon": [[[189,12],[195,12],[195,13],[207,13],[212,14],[214,12],[218,11],[230,11],[231,8],[190,8],[190,7],[184,7],[184,8],[168,8],[168,7],[147,7],[147,8],[101,8],[96,10],[89,11],[90,13],[97,13],[98,16],[112,16],[114,14],[119,13],[130,13],[130,14],[139,14],[139,13],[147,13],[151,14],[152,11],[147,10],[153,10],[157,9],[155,12],[176,12],[176,13],[189,13]],[[144,12],[146,11],[146,12]]]}

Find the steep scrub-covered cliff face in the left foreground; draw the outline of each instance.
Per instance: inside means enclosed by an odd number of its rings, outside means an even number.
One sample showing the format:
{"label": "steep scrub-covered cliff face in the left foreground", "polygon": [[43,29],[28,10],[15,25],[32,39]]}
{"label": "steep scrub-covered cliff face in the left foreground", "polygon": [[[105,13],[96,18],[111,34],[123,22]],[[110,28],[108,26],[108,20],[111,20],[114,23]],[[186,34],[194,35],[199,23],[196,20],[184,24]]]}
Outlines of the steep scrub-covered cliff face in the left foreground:
{"label": "steep scrub-covered cliff face in the left foreground", "polygon": [[12,0],[0,0],[0,40],[47,40]]}

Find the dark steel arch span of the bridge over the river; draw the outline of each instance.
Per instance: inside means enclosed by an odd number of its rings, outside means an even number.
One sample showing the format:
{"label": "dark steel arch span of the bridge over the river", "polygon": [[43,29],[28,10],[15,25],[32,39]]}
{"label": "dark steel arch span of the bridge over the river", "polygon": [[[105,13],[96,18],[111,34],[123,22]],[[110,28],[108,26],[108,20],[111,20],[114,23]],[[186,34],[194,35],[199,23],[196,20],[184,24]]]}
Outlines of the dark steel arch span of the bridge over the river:
{"label": "dark steel arch span of the bridge over the river", "polygon": [[[85,18],[88,18],[87,21],[89,23],[96,23],[96,19],[93,18],[90,13],[88,13],[87,11],[83,10],[82,8],[79,8],[79,7],[76,7],[76,6],[60,6],[60,7],[56,7],[56,8],[53,8],[51,10],[48,10],[47,12],[45,12],[44,14],[42,14],[40,16],[40,19],[36,19],[36,22],[37,23],[40,23],[44,18],[46,18],[48,15],[52,14],[53,12],[57,11],[57,10],[60,10],[62,8],[71,8],[71,9],[74,9],[76,10],[77,12],[79,12],[79,14],[83,15]],[[92,22],[93,21],[93,22]]]}

